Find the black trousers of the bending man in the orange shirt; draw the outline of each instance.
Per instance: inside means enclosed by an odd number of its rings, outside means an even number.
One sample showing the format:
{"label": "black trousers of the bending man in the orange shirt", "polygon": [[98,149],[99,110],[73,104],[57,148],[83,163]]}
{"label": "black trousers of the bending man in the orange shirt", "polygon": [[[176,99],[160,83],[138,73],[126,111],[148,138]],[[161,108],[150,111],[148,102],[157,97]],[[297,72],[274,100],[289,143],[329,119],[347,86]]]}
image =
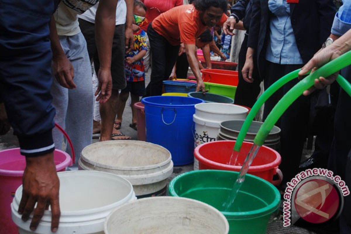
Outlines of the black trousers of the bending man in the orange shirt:
{"label": "black trousers of the bending man in the orange shirt", "polygon": [[158,96],[162,94],[162,81],[169,78],[176,63],[179,45],[172,46],[152,28],[152,24],[149,24],[147,35],[150,41],[152,71],[150,83],[146,87],[146,96]]}

